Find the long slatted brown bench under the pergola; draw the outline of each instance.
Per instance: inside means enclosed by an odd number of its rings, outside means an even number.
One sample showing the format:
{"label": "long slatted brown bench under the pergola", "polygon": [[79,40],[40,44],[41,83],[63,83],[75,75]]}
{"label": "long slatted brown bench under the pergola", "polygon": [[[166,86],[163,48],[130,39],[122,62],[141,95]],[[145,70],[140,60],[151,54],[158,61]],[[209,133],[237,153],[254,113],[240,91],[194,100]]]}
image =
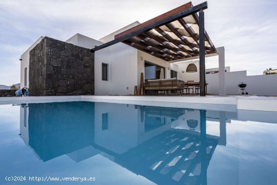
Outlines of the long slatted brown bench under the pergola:
{"label": "long slatted brown bench under the pergola", "polygon": [[149,91],[157,93],[158,91],[164,91],[167,94],[178,94],[179,92],[182,95],[184,87],[185,82],[176,78],[148,80],[144,83],[145,94],[148,94]]}

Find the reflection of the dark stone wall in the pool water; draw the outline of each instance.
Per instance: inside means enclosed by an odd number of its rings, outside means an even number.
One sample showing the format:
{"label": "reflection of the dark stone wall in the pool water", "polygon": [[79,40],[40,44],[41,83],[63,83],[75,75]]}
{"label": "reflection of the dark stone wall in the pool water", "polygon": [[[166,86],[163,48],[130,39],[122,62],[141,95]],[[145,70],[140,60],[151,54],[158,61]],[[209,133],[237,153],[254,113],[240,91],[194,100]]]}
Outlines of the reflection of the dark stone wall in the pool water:
{"label": "reflection of the dark stone wall in the pool water", "polygon": [[94,102],[29,103],[29,145],[40,159],[94,143]]}

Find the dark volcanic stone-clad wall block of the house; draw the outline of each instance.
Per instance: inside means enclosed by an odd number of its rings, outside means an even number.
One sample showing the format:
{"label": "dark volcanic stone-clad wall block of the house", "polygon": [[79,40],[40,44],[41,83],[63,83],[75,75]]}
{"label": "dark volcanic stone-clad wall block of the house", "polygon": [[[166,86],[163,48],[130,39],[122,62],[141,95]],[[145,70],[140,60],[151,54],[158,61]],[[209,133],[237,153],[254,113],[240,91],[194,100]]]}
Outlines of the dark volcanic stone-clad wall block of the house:
{"label": "dark volcanic stone-clad wall block of the house", "polygon": [[94,53],[44,37],[30,51],[29,96],[94,95]]}

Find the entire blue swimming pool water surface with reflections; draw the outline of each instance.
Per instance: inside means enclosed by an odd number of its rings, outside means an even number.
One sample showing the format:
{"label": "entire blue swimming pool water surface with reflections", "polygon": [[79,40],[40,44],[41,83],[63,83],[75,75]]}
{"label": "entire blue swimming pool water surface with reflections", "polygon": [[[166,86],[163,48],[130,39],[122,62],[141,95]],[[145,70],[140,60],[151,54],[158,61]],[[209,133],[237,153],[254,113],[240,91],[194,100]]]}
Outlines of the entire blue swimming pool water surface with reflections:
{"label": "entire blue swimming pool water surface with reflections", "polygon": [[84,101],[0,105],[0,184],[276,184],[275,115]]}

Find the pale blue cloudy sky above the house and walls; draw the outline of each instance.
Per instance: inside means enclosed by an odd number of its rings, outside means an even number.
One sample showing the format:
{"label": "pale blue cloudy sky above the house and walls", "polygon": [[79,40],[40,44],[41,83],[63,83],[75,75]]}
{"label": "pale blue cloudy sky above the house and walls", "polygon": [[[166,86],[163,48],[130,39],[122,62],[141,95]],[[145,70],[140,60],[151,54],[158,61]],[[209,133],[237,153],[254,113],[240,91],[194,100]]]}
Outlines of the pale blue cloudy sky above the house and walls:
{"label": "pale blue cloudy sky above the house and walls", "polygon": [[[0,0],[0,84],[20,82],[21,54],[40,36],[66,40],[76,33],[99,39],[134,21],[144,22],[188,1]],[[192,1],[193,5],[203,1]],[[277,1],[210,0],[205,29],[225,46],[226,66],[261,75],[277,68]],[[217,68],[206,58],[206,68]]]}

